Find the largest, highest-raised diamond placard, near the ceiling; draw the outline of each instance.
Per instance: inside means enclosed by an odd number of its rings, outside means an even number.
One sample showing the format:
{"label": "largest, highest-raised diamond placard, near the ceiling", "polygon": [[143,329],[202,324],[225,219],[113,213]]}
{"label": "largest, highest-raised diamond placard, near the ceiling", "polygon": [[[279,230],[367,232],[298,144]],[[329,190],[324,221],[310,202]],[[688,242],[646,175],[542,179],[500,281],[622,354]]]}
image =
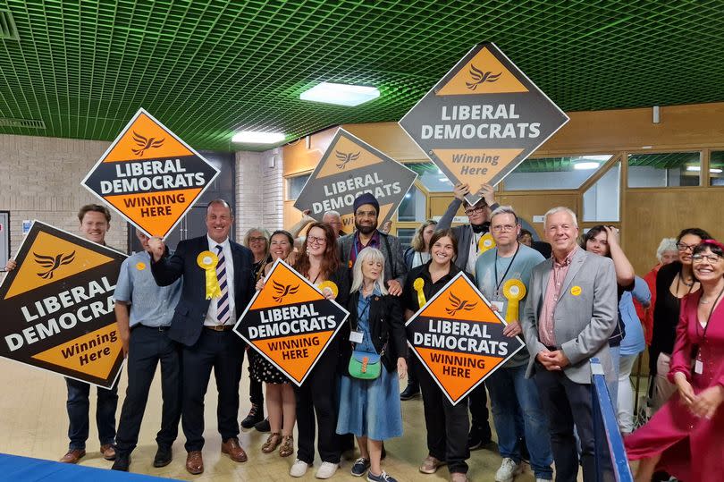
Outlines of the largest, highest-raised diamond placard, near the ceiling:
{"label": "largest, highest-raised diamond placard, near the ceiling", "polygon": [[473,47],[400,120],[400,126],[475,204],[563,124],[563,113],[491,42]]}

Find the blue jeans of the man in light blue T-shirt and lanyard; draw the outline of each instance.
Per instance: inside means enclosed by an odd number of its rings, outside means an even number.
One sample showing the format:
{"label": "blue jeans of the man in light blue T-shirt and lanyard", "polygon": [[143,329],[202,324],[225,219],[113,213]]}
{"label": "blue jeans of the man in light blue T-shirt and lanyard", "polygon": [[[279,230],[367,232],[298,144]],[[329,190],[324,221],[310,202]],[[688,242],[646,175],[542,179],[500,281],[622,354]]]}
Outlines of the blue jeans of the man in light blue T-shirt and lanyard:
{"label": "blue jeans of the man in light blue T-shirt and lanyard", "polygon": [[[551,480],[551,441],[548,419],[543,411],[535,381],[526,378],[526,365],[499,368],[485,379],[492,404],[492,421],[498,433],[498,450],[501,457],[520,461],[516,419],[518,406],[523,415],[526,445],[530,453],[530,466],[536,478]],[[518,403],[515,401],[518,400]]]}

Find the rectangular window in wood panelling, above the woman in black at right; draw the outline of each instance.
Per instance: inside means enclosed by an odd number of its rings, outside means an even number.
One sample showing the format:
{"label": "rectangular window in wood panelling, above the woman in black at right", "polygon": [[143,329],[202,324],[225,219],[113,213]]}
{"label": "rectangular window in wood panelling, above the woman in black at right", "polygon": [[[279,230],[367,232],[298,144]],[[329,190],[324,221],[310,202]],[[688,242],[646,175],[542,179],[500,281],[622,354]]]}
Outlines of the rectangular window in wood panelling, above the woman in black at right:
{"label": "rectangular window in wood panelling, above the woman in black at right", "polygon": [[701,169],[699,152],[629,154],[628,187],[698,186]]}

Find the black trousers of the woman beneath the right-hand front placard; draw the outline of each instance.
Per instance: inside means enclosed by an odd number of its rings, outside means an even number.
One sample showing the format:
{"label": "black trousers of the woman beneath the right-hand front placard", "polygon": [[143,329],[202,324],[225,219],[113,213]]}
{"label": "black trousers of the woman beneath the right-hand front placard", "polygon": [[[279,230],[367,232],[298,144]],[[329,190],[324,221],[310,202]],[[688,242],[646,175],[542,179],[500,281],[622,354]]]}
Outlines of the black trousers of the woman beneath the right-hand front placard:
{"label": "black trousers of the woman beneath the right-hand front placard", "polygon": [[421,363],[417,363],[417,379],[423,395],[427,450],[435,459],[446,461],[450,474],[467,474],[467,400],[452,405]]}

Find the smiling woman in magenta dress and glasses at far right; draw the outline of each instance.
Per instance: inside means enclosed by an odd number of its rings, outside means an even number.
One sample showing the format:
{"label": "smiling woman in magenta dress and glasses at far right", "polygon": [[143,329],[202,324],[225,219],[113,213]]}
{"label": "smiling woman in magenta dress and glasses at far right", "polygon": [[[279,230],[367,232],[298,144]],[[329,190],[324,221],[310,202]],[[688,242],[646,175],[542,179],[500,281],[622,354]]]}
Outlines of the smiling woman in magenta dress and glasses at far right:
{"label": "smiling woman in magenta dress and glasses at far right", "polygon": [[[681,240],[688,234],[679,240],[686,246],[690,244]],[[692,281],[700,288],[681,299],[668,374],[677,393],[625,440],[628,458],[639,460],[636,482],[649,482],[655,469],[686,481],[715,482],[722,477],[724,245],[705,239],[686,251]]]}

